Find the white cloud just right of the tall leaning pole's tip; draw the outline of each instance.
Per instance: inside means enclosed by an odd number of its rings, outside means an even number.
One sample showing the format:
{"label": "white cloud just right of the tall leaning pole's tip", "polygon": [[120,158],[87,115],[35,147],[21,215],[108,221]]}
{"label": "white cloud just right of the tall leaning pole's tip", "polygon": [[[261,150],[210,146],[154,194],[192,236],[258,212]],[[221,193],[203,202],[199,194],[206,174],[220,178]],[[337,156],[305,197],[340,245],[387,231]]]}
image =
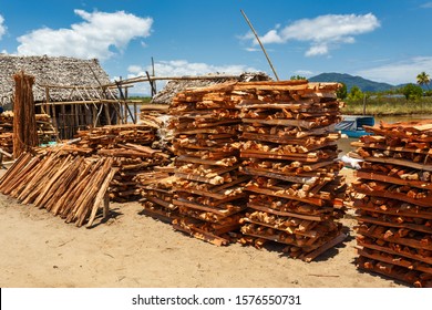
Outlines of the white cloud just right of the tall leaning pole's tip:
{"label": "white cloud just right of the tall leaning pole's tip", "polygon": [[[342,43],[354,43],[354,35],[371,32],[380,27],[376,16],[368,13],[357,14],[328,14],[315,19],[301,19],[291,24],[268,31],[259,38],[263,44],[287,43],[288,41],[309,42],[310,48],[306,51],[307,56],[323,55],[330,49]],[[243,40],[253,40],[254,45],[257,40],[250,38],[250,33],[245,34]]]}

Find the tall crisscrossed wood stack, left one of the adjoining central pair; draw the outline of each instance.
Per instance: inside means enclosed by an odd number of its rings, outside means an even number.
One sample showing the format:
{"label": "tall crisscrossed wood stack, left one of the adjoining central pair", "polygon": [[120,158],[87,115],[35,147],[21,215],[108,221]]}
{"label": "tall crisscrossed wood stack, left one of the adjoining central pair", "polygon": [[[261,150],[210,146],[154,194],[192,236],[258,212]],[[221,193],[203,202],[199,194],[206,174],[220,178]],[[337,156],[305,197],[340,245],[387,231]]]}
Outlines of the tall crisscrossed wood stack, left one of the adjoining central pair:
{"label": "tall crisscrossed wood stack, left one of the adjoining central pair", "polygon": [[191,89],[178,93],[169,108],[174,116],[176,197],[181,219],[174,228],[215,245],[228,245],[246,207],[238,170],[236,83]]}

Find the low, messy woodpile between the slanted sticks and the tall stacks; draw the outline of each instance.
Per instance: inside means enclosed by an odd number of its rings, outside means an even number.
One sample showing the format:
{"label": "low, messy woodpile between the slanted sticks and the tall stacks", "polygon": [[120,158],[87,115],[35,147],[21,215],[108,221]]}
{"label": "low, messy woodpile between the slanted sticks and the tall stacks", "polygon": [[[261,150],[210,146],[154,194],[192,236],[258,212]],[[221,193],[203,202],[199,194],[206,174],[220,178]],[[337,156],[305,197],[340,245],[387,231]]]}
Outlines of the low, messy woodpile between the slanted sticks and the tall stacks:
{"label": "low, messy woodpile between the slanted sticks and the tall stacks", "polygon": [[171,154],[152,148],[156,140],[156,127],[148,125],[113,125],[80,131],[81,151],[113,157],[117,168],[111,185],[110,198],[115,202],[136,200],[141,197],[140,174],[155,166],[169,164]]}

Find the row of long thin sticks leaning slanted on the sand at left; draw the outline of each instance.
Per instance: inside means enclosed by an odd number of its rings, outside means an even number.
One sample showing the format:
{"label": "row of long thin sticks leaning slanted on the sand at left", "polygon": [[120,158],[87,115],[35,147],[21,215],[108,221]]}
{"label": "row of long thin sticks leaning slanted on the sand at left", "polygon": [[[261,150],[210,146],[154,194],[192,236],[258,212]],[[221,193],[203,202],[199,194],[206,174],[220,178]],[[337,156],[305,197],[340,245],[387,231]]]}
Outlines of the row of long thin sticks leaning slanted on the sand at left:
{"label": "row of long thin sticks leaning slanted on the sand at left", "polygon": [[112,165],[112,158],[89,159],[59,148],[43,157],[23,153],[0,179],[0,193],[90,227],[116,173]]}

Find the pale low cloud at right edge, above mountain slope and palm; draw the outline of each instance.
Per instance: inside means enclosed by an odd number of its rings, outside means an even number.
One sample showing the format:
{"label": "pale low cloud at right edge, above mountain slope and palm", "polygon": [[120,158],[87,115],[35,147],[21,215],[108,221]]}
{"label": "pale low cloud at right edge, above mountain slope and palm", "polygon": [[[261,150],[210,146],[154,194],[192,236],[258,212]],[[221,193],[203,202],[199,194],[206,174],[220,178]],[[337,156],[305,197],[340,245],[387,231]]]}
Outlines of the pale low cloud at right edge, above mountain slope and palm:
{"label": "pale low cloud at right edge, above mountain slope and palm", "polygon": [[420,72],[432,74],[432,56],[418,56],[409,60],[358,71],[356,74],[377,82],[393,85],[415,83]]}

